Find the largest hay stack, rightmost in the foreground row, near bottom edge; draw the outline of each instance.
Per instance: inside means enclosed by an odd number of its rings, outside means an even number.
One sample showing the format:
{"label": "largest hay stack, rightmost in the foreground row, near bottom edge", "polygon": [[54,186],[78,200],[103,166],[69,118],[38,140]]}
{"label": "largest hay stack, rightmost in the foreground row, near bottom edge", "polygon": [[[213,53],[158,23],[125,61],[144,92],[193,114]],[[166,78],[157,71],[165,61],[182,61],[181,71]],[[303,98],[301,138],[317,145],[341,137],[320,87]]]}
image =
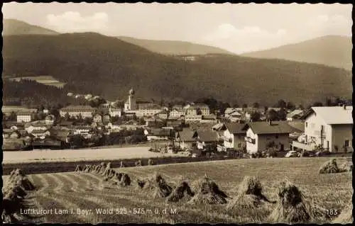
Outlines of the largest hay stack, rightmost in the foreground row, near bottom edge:
{"label": "largest hay stack, rightmost in the foreground row, near bottom edge", "polygon": [[288,180],[280,184],[278,198],[278,203],[269,216],[272,222],[295,224],[329,219],[326,210],[304,200],[300,189]]}

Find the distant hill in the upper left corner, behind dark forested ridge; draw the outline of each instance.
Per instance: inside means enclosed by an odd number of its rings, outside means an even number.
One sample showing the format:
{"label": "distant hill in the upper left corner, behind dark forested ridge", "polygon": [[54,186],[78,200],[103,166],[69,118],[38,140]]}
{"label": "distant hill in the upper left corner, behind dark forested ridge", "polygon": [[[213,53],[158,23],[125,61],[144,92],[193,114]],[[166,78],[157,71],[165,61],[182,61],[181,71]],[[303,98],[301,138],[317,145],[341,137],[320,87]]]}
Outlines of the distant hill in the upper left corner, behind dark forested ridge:
{"label": "distant hill in the upper left corner, behind dark forested ridge", "polygon": [[58,35],[59,33],[15,19],[4,19],[3,35]]}

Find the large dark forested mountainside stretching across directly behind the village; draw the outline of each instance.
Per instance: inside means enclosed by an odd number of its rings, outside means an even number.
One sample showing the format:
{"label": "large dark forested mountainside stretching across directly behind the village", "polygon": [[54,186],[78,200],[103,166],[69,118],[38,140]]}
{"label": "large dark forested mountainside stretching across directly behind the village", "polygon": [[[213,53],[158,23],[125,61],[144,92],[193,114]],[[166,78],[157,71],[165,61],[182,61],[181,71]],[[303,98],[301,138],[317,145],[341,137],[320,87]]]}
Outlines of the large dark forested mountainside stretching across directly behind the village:
{"label": "large dark forested mountainside stretching across directly behind the village", "polygon": [[[39,54],[40,53],[40,54]],[[49,74],[83,92],[125,98],[212,95],[224,101],[312,103],[350,96],[351,72],[317,64],[234,55],[184,62],[97,33],[4,37],[4,74]]]}

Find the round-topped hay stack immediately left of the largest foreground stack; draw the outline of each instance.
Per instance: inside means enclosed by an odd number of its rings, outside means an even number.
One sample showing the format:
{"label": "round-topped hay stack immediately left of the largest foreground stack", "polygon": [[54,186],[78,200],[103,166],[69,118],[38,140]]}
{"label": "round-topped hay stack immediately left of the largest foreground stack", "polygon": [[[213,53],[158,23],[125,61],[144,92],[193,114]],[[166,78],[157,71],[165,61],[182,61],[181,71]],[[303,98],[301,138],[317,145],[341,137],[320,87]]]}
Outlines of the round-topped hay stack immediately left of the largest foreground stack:
{"label": "round-topped hay stack immediately left of the largest foreground stack", "polygon": [[275,201],[268,200],[262,191],[261,182],[255,176],[245,176],[239,184],[236,198],[227,205],[227,209],[255,209],[264,202],[276,203]]}

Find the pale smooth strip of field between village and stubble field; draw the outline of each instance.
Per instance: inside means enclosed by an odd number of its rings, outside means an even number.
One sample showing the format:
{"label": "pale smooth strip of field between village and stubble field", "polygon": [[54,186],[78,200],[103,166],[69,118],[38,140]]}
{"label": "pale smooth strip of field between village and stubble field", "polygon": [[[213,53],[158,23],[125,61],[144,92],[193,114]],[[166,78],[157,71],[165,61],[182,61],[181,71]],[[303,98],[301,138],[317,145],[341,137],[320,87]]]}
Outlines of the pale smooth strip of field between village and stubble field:
{"label": "pale smooth strip of field between village and stubble field", "polygon": [[3,152],[3,164],[27,162],[82,162],[94,160],[136,159],[179,156],[149,152],[149,147],[123,147],[98,149],[60,149]]}

